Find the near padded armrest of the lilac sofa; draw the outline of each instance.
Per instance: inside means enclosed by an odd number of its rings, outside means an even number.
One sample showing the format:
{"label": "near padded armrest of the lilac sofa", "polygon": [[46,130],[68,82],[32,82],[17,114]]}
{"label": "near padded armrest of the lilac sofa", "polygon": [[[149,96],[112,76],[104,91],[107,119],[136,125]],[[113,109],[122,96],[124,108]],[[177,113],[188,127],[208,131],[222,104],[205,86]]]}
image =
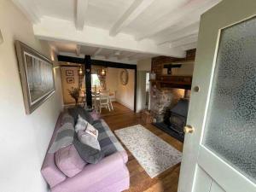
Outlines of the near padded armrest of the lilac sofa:
{"label": "near padded armrest of the lilac sofa", "polygon": [[68,177],[64,182],[59,183],[52,192],[86,191],[96,183],[107,179],[112,173],[119,172],[119,179],[129,177],[122,154],[119,152],[105,157],[97,164],[84,166],[84,170],[74,177]]}

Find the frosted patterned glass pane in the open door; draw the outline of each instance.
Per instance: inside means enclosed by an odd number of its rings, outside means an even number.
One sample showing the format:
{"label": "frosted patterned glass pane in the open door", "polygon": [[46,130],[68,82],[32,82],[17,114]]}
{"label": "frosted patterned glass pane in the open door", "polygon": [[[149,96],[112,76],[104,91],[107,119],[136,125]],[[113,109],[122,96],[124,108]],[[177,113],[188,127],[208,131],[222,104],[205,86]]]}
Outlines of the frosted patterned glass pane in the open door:
{"label": "frosted patterned glass pane in the open door", "polygon": [[255,18],[221,31],[203,144],[255,182]]}

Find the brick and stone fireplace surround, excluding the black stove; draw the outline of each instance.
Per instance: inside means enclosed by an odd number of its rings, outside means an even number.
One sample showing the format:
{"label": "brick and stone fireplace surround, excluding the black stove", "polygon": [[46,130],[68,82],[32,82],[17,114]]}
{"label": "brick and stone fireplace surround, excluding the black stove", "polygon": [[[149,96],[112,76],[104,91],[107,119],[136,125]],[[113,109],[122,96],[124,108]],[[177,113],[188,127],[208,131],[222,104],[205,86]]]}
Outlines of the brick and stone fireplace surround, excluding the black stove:
{"label": "brick and stone fireplace surround, excluding the black stove", "polygon": [[[163,66],[165,64],[171,64],[172,62],[181,60],[182,59],[166,56],[158,56],[152,58],[151,72],[155,73],[155,80],[152,80],[150,84],[150,113],[154,119],[154,125],[162,129],[163,131],[166,131],[172,137],[176,137],[179,141],[183,142],[183,136],[177,134],[177,132],[175,131],[170,131],[170,128],[168,128],[169,125],[165,124],[165,118],[166,115],[170,113],[170,110],[177,104],[180,99],[184,97],[189,98],[190,90],[188,91],[188,89],[190,87],[183,87],[178,84],[172,84],[171,78],[173,76],[165,76],[162,74]],[[183,61],[195,61],[195,49],[188,50],[187,56],[183,58]],[[175,74],[173,75],[175,76]],[[190,76],[190,79],[192,79],[192,74]]]}

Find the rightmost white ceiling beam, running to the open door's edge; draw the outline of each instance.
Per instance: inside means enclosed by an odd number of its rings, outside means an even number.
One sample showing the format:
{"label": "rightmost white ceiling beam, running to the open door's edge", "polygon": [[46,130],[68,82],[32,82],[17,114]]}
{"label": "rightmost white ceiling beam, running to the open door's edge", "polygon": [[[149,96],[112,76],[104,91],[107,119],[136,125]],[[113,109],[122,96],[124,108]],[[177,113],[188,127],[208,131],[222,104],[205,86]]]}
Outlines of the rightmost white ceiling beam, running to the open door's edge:
{"label": "rightmost white ceiling beam, running to the open door's edge", "polygon": [[185,26],[182,29],[175,30],[174,32],[167,33],[166,35],[161,35],[158,40],[155,41],[155,44],[166,44],[172,42],[175,39],[180,39],[187,37],[189,35],[194,35],[199,32],[199,22],[195,22],[189,26]]}

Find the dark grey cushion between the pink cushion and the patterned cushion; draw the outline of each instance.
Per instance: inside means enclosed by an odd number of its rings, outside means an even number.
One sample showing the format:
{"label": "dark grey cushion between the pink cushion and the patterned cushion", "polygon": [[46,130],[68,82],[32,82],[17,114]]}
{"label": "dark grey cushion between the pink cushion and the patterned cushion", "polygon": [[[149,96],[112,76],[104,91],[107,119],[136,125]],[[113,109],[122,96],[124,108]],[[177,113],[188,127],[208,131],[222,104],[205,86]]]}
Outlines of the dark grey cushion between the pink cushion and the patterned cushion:
{"label": "dark grey cushion between the pink cushion and the patterned cushion", "polygon": [[73,145],[79,152],[80,157],[87,163],[96,164],[104,157],[104,153],[102,151],[81,143],[77,133],[74,134]]}

